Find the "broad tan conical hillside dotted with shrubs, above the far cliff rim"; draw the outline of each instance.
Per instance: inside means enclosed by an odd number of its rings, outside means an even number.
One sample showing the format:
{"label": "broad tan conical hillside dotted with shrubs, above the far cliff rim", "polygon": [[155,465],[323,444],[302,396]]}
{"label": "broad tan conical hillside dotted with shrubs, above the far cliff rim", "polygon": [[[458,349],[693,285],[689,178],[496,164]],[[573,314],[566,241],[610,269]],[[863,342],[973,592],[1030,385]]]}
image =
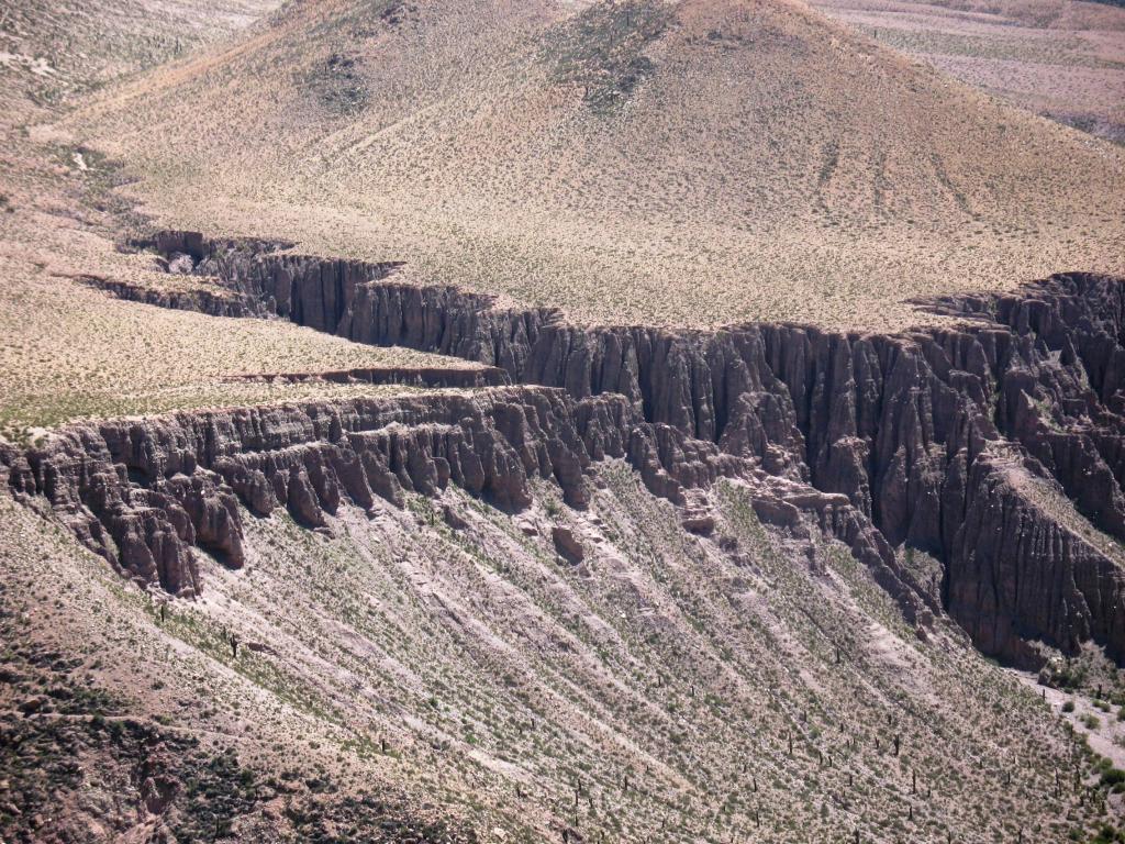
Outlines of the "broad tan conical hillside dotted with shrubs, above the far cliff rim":
{"label": "broad tan conical hillside dotted with shrubs, above the far cliff rim", "polygon": [[900,326],[1125,269],[1118,147],[778,0],[297,3],[50,132],[173,227],[584,322]]}

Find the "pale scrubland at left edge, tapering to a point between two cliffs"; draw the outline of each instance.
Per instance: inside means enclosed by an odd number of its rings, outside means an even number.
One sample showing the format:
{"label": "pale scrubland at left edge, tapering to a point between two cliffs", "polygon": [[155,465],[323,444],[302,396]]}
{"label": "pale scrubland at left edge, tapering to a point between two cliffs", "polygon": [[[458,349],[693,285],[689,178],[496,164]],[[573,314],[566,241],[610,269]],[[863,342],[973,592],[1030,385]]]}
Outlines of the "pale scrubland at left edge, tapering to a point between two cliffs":
{"label": "pale scrubland at left edge, tapering to a point between two cliffs", "polygon": [[210,313],[231,303],[214,279],[169,272],[152,250],[129,245],[148,223],[116,192],[120,168],[34,127],[168,61],[169,45],[201,50],[273,7],[20,2],[0,11],[11,50],[45,62],[0,63],[0,438],[26,441],[81,417],[476,379],[479,367],[464,361],[123,300],[145,290],[165,304],[209,302]]}

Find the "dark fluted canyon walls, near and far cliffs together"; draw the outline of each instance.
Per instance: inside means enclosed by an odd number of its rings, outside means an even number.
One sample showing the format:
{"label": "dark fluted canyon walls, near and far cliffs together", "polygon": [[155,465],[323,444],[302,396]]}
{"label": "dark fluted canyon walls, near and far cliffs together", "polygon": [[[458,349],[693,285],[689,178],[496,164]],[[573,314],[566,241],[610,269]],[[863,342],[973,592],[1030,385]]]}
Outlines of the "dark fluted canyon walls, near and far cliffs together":
{"label": "dark fluted canyon walls, near and far cliffs together", "polygon": [[[910,620],[947,613],[986,654],[1030,668],[1043,646],[1125,656],[1117,279],[1060,275],[920,303],[946,324],[898,334],[676,332],[497,308],[452,286],[396,284],[393,263],[296,255],[291,244],[162,232],[145,245],[209,277],[227,315],[462,358],[523,386],[107,421],[3,448],[17,495],[44,496],[142,582],[197,592],[192,545],[237,566],[237,502],[318,527],[341,499],[367,508],[372,495],[453,483],[515,512],[538,476],[582,508],[590,465],[624,458],[681,506],[685,490],[745,479],[764,522],[800,533],[808,521],[842,539]],[[915,551],[940,575],[911,573],[903,557]]]}

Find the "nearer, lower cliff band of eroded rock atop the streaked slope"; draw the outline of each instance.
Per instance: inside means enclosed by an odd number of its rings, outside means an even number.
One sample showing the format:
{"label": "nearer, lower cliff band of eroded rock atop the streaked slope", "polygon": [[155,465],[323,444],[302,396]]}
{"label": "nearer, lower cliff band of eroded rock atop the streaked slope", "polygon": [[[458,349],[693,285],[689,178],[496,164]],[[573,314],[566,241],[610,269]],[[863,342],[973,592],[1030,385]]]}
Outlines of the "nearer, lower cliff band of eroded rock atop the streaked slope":
{"label": "nearer, lower cliff band of eroded rock atop the streaked slope", "polygon": [[908,616],[926,618],[889,546],[846,499],[647,423],[619,395],[511,387],[115,420],[69,427],[25,451],[0,448],[0,473],[124,574],[191,595],[200,589],[192,546],[242,565],[238,502],[256,515],[286,508],[321,528],[344,500],[402,506],[404,491],[433,496],[450,483],[518,511],[531,503],[529,481],[543,477],[585,508],[585,470],[606,458],[627,460],[654,494],[680,504],[685,486],[739,477],[765,520],[804,530],[807,519],[838,537]]}

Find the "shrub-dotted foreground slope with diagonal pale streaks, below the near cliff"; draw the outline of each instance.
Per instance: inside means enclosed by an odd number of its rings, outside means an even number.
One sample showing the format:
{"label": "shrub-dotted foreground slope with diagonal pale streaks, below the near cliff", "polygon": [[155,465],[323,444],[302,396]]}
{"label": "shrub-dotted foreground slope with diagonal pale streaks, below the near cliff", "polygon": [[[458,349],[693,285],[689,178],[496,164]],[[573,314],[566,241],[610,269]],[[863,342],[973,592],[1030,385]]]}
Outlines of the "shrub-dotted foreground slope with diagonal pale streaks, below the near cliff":
{"label": "shrub-dotted foreground slope with diagonal pale streaks, below the near cliff", "polygon": [[[325,412],[350,413],[290,410]],[[4,838],[1063,841],[1116,806],[1061,697],[919,635],[845,546],[765,527],[757,486],[694,496],[687,532],[621,461],[582,510],[534,479],[515,517],[426,472],[315,531],[243,510],[243,567],[201,555],[197,600],[0,500]]]}

